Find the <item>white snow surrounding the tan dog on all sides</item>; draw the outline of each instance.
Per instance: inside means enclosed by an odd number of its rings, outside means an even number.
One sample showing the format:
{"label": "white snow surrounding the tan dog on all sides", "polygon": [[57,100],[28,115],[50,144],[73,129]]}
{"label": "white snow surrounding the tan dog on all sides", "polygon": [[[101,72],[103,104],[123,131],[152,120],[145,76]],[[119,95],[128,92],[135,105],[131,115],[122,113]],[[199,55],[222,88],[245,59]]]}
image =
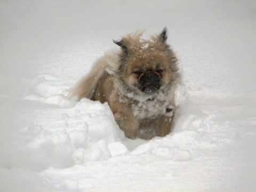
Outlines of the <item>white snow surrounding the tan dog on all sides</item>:
{"label": "white snow surrounding the tan dog on all sides", "polygon": [[[256,1],[0,1],[0,191],[255,191]],[[112,39],[169,29],[184,85],[165,138],[66,97]]]}

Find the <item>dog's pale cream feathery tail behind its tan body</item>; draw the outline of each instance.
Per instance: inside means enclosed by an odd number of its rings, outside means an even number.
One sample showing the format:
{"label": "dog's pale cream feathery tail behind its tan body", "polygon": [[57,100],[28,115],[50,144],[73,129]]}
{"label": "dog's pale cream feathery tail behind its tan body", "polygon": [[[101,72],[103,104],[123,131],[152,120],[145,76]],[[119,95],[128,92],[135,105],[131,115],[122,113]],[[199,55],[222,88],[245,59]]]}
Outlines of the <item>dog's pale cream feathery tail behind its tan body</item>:
{"label": "dog's pale cream feathery tail behind its tan body", "polygon": [[106,69],[109,67],[111,60],[113,60],[111,55],[105,55],[95,61],[89,75],[78,81],[70,91],[70,97],[77,96],[79,100],[82,98],[92,99],[100,79],[107,75]]}

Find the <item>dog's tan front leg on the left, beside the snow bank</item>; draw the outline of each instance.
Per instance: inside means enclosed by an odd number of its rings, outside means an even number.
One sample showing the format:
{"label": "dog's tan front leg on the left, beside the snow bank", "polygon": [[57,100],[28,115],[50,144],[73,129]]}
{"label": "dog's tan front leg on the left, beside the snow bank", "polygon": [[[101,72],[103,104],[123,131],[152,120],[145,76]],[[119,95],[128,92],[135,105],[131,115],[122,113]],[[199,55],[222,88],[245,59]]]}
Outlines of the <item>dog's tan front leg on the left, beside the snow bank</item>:
{"label": "dog's tan front leg on the left, beside the snow bank", "polygon": [[132,109],[129,105],[119,102],[118,92],[115,91],[110,95],[109,101],[110,109],[112,110],[115,120],[122,129],[127,138],[137,138],[137,132],[139,131],[139,121],[133,115]]}

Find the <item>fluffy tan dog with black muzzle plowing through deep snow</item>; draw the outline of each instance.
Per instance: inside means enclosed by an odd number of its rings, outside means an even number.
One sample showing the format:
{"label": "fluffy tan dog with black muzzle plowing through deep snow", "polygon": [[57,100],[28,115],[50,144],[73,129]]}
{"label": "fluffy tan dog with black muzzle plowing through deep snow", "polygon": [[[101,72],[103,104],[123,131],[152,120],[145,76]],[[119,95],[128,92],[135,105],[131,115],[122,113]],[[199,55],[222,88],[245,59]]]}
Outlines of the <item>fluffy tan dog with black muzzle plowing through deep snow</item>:
{"label": "fluffy tan dog with black muzzle plowing through deep snow", "polygon": [[167,29],[142,39],[142,31],[114,41],[121,49],[95,61],[71,95],[108,102],[127,138],[164,137],[172,127],[178,59],[166,43]]}

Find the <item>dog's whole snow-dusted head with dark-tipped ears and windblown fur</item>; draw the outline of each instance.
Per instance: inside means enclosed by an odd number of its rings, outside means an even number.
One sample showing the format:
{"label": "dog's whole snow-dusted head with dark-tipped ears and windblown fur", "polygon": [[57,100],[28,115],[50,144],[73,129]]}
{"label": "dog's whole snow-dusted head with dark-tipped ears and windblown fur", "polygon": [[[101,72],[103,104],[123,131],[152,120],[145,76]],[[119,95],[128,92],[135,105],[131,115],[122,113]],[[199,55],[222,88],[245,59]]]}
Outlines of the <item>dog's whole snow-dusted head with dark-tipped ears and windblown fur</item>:
{"label": "dog's whole snow-dusted head with dark-tipped ears and windblown fur", "polygon": [[141,35],[137,31],[114,41],[122,48],[117,75],[132,90],[150,95],[173,81],[178,60],[166,43],[166,28],[149,40],[141,39]]}

